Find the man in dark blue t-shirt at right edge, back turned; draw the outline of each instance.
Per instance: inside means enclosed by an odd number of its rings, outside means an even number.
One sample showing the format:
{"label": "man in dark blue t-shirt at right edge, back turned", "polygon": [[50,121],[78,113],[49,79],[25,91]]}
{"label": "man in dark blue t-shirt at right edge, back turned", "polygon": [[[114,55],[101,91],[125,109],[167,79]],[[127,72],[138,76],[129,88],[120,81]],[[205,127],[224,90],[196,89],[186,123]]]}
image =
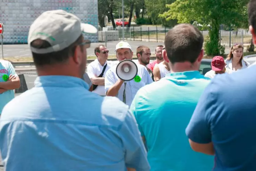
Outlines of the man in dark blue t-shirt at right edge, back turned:
{"label": "man in dark blue t-shirt at right edge, back turned", "polygon": [[[256,44],[256,0],[248,5]],[[256,170],[256,66],[212,79],[186,128],[192,149],[215,154],[214,171]]]}

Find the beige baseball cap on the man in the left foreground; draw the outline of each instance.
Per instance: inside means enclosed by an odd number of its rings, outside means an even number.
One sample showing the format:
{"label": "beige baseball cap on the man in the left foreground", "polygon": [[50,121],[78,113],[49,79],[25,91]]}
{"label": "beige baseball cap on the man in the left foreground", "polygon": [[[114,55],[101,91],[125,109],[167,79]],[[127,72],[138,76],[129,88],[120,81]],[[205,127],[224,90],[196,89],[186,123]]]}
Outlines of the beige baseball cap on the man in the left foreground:
{"label": "beige baseball cap on the man in the left foreground", "polygon": [[[44,54],[65,49],[74,43],[82,33],[97,33],[97,28],[81,23],[74,14],[64,10],[51,10],[42,13],[30,26],[28,45],[32,52]],[[51,47],[37,49],[30,44],[36,39],[46,40]]]}

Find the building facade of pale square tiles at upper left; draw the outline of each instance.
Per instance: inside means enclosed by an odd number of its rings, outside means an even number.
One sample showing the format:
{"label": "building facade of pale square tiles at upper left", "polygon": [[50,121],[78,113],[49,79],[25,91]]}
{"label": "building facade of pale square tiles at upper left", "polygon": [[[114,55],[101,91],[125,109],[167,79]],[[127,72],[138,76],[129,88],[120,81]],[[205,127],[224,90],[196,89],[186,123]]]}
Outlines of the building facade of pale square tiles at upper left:
{"label": "building facade of pale square tiles at upper left", "polygon": [[[27,44],[29,26],[44,11],[62,9],[98,28],[98,0],[0,0],[4,44]],[[98,42],[98,34],[85,34]]]}

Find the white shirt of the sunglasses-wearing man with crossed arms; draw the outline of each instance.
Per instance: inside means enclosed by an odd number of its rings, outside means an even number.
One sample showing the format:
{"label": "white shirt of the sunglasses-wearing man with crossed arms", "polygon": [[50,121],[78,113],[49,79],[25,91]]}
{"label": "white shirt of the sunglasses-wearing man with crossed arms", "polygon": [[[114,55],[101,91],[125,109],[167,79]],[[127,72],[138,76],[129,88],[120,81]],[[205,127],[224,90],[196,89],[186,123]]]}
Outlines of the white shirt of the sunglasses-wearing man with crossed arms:
{"label": "white shirt of the sunglasses-wearing man with crossed arms", "polygon": [[[105,77],[106,72],[111,68],[112,61],[106,61],[103,66],[99,63],[98,59],[95,59],[93,62],[89,63],[89,65],[87,66],[87,74],[89,78],[91,79],[98,77],[106,64],[108,65],[106,66],[106,69],[102,77]],[[95,90],[93,90],[93,93],[96,93],[100,96],[106,96],[105,86],[98,85],[98,87]]]}

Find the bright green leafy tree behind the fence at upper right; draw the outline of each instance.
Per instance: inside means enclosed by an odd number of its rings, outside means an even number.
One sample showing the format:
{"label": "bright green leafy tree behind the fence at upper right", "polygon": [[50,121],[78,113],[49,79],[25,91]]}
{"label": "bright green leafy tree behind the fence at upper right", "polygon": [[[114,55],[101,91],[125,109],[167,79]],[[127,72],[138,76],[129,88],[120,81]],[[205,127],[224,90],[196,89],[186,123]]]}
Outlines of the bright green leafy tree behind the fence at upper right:
{"label": "bright green leafy tree behind the fence at upper right", "polygon": [[205,40],[207,55],[224,53],[219,44],[219,27],[235,25],[238,28],[248,26],[246,5],[249,0],[176,0],[166,5],[169,10],[159,17],[178,20],[178,23],[197,21],[209,30]]}

